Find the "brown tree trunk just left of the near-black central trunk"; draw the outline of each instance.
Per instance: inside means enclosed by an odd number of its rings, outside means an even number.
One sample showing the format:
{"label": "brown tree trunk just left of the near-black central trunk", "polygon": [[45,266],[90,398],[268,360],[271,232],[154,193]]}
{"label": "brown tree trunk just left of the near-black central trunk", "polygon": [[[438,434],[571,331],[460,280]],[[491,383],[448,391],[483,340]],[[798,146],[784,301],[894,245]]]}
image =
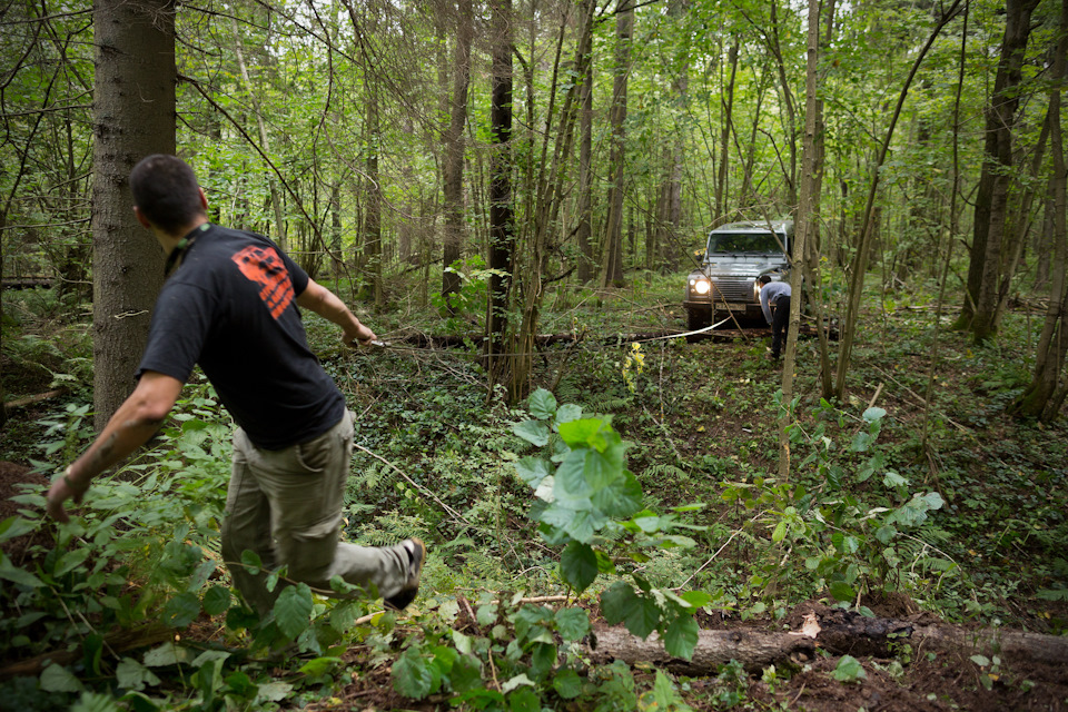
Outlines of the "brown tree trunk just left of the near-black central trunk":
{"label": "brown tree trunk just left of the near-black central trunk", "polygon": [[[459,275],[448,267],[459,259],[464,243],[464,127],[467,125],[467,89],[471,86],[471,42],[474,19],[471,0],[456,8],[456,48],[453,57],[453,100],[445,131],[445,166],[442,180],[445,198],[445,240],[442,250],[442,295],[459,291]],[[452,312],[452,308],[449,308]]]}

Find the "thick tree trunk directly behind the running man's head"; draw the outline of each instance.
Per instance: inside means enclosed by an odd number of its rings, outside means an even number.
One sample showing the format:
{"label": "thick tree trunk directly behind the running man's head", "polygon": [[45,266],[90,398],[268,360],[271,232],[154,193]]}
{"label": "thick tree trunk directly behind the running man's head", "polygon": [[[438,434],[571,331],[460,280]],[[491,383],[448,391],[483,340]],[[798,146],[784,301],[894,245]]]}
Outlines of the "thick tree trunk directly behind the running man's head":
{"label": "thick tree trunk directly behind the running man's head", "polygon": [[128,179],[149,154],[175,152],[175,6],[97,0],[93,6],[93,406],[96,427],[134,389],[164,279],[156,240],[134,217]]}

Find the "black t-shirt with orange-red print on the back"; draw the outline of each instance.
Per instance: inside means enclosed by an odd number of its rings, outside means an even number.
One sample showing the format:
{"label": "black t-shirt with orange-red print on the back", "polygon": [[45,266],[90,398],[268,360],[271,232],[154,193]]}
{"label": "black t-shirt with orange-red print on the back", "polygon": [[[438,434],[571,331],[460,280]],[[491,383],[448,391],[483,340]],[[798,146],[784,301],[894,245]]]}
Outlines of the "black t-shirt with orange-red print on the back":
{"label": "black t-shirt with orange-red print on the back", "polygon": [[200,364],[249,439],[281,449],[322,435],[345,397],[308,348],[296,297],[308,275],[266,237],[205,225],[156,301],[137,375],[182,383]]}

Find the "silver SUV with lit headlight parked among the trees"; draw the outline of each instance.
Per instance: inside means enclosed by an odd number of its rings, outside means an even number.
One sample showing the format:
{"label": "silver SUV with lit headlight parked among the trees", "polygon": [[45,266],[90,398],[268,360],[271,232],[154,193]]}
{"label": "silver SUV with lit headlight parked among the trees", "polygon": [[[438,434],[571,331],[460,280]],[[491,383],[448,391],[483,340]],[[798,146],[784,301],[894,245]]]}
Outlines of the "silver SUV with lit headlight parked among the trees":
{"label": "silver SUV with lit headlight parked among the trees", "polygon": [[728,313],[762,318],[756,278],[787,278],[792,241],[791,220],[731,222],[709,233],[701,267],[686,279],[686,327],[704,328]]}

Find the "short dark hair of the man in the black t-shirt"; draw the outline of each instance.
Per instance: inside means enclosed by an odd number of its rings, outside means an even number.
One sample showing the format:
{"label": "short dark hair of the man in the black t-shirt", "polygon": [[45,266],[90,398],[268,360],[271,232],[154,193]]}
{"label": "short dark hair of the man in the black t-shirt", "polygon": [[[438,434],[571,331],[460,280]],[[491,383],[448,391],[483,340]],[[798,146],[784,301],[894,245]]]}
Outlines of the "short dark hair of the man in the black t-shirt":
{"label": "short dark hair of the man in the black t-shirt", "polygon": [[130,171],[130,192],[141,215],[168,233],[204,215],[197,176],[177,156],[154,154],[142,158]]}

